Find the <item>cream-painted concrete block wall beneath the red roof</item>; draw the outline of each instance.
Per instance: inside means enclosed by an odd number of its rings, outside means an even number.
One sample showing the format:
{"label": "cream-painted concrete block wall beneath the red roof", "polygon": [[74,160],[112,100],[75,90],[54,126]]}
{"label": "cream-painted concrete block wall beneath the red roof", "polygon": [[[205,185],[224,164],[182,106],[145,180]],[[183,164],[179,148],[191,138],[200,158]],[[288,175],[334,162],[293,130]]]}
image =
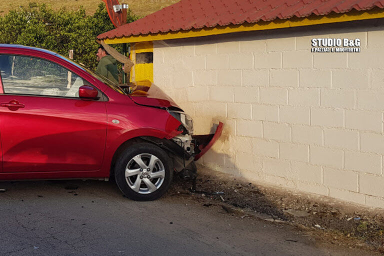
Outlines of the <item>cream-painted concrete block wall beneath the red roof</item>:
{"label": "cream-painted concrete block wall beneath the red roof", "polygon": [[[225,123],[202,164],[384,207],[382,23],[155,41],[154,82],[196,134]],[[310,51],[328,37],[359,38],[361,52]]]}

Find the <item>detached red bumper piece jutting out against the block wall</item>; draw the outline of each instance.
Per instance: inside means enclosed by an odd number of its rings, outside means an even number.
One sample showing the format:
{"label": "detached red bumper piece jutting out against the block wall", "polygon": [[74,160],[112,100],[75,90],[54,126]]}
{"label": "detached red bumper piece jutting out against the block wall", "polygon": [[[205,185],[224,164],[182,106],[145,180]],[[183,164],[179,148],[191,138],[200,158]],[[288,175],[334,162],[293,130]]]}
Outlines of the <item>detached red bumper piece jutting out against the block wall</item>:
{"label": "detached red bumper piece jutting out against the block wall", "polygon": [[219,122],[216,131],[213,134],[206,135],[192,135],[192,138],[195,141],[194,152],[196,153],[194,156],[194,160],[198,160],[206,151],[208,151],[214,142],[221,136],[221,132],[224,124]]}

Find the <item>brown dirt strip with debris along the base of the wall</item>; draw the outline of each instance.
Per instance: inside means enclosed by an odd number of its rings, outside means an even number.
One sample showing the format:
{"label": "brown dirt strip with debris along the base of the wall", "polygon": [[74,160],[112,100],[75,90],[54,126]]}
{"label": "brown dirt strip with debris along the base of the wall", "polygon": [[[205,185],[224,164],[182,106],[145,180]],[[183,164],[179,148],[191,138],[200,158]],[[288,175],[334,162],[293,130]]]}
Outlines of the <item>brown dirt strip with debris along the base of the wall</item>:
{"label": "brown dirt strip with debris along the base of the wall", "polygon": [[[261,214],[267,221],[306,230],[322,242],[384,253],[384,210],[364,208],[329,197],[259,185],[243,178],[199,168],[196,192],[174,179],[170,194],[189,194],[202,205],[226,204],[227,213]],[[234,207],[233,207],[234,206]]]}

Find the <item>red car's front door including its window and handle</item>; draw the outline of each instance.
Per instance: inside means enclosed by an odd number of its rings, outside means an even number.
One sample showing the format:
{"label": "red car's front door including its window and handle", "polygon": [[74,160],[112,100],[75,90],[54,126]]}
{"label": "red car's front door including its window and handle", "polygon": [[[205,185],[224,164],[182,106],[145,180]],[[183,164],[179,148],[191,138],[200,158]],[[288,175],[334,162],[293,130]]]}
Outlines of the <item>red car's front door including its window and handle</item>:
{"label": "red car's front door including its window and handle", "polygon": [[91,84],[57,63],[4,56],[8,68],[1,69],[3,172],[100,169],[106,139],[103,97],[80,99],[78,87]]}

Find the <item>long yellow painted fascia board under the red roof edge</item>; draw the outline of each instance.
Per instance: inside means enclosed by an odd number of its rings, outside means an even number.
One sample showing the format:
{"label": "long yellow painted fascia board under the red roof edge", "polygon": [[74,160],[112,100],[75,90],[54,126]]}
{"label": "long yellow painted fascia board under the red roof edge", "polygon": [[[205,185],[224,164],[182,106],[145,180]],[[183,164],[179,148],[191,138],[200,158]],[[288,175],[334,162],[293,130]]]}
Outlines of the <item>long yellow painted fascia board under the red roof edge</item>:
{"label": "long yellow painted fascia board under the red roof edge", "polygon": [[227,25],[204,27],[201,29],[190,29],[181,31],[170,31],[166,33],[155,33],[145,35],[132,35],[124,37],[115,37],[112,39],[104,39],[105,43],[126,43],[126,42],[144,42],[177,38],[188,38],[197,36],[206,36],[214,34],[224,34],[242,31],[266,30],[284,27],[307,26],[316,24],[326,24],[335,22],[345,22],[362,19],[382,18],[384,17],[384,9],[373,8],[366,11],[352,10],[347,13],[331,13],[326,16],[310,15],[305,18],[292,17],[290,19],[275,19],[273,21],[259,21],[257,23],[244,23],[241,25]]}

